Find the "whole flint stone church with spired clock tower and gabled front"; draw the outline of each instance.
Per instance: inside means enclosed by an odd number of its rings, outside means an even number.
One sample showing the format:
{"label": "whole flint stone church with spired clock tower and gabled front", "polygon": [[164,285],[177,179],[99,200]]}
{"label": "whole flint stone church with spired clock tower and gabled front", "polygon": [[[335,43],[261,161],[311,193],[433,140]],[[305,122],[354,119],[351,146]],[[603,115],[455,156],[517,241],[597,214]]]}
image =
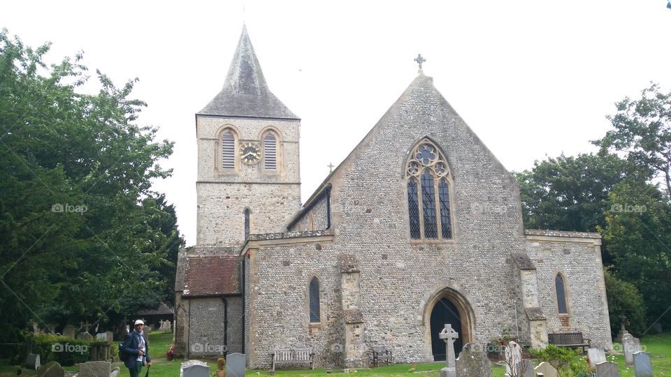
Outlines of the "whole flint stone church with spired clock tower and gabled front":
{"label": "whole flint stone church with spired clock tower and gabled front", "polygon": [[444,360],[502,334],[612,348],[597,233],[530,230],[519,188],[422,73],[301,205],[301,119],[268,89],[243,27],[196,114],[196,246],[180,252],[178,355],[310,348],[316,367]]}

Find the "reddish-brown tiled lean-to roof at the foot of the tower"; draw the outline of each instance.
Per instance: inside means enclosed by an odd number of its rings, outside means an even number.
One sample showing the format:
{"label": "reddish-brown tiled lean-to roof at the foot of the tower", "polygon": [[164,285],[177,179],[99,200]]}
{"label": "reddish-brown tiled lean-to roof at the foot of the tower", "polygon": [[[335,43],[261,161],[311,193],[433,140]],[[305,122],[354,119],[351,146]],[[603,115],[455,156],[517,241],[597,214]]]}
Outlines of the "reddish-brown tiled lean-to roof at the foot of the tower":
{"label": "reddish-brown tiled lean-to roof at the foot of the tower", "polygon": [[187,255],[183,295],[239,294],[238,275],[235,255]]}

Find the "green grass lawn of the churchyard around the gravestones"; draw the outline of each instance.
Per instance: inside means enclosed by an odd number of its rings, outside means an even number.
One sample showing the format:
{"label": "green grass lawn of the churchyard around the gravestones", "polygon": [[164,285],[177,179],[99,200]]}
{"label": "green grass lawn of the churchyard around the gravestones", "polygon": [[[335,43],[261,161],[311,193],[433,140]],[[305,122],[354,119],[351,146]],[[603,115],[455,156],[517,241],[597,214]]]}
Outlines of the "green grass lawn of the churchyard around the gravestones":
{"label": "green grass lawn of the churchyard around the gravestones", "polygon": [[[150,376],[152,377],[174,377],[180,374],[180,365],[185,360],[173,360],[168,362],[165,360],[165,353],[170,348],[173,339],[171,332],[152,332],[149,335],[150,354],[155,359],[152,363]],[[615,349],[621,349],[619,344],[614,345]],[[659,335],[647,335],[642,339],[642,346],[644,350],[650,353],[652,359],[652,368],[655,376],[670,376],[671,377],[671,332]],[[579,359],[584,360],[584,355],[578,356]],[[634,369],[627,368],[624,362],[624,356],[615,354],[608,356],[609,360],[618,364],[621,377],[634,377]],[[537,362],[535,362],[537,364]],[[210,371],[214,372],[217,369],[215,361],[208,361]],[[349,376],[373,377],[373,376],[417,376],[417,377],[438,377],[440,376],[440,368],[445,365],[444,362],[431,362],[420,364],[394,364],[388,367],[379,367],[371,369],[358,369],[350,371]],[[128,376],[128,371],[120,362],[115,362],[113,366],[120,366],[122,369],[121,376]],[[15,376],[17,366],[11,366],[7,360],[0,360],[0,377]],[[76,371],[77,367],[66,367],[68,371]],[[143,369],[143,373],[146,369]],[[335,370],[334,370],[335,371]],[[22,376],[32,376],[34,371],[23,371]],[[322,377],[322,376],[345,376],[342,373],[326,374],[326,369],[276,369],[275,374],[279,377]],[[502,363],[493,364],[493,376],[503,377],[505,374],[505,367]],[[267,370],[247,370],[247,376],[268,376]]]}

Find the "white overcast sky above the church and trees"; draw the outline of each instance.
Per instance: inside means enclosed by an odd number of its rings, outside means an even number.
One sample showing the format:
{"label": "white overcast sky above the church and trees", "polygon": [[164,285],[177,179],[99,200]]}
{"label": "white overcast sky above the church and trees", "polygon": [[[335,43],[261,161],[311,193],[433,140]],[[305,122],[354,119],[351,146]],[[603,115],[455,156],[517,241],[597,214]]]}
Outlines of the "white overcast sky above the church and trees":
{"label": "white overcast sky above the church and trees", "polygon": [[[666,0],[11,1],[0,27],[48,62],[84,52],[117,85],[138,77],[140,124],[175,141],[156,182],[196,241],[194,114],[221,89],[243,22],[270,90],[301,117],[306,200],[424,73],[510,170],[595,151],[605,115],[671,86]],[[244,9],[244,10],[243,10]],[[92,86],[91,90],[95,88]],[[447,146],[446,146],[447,147]]]}

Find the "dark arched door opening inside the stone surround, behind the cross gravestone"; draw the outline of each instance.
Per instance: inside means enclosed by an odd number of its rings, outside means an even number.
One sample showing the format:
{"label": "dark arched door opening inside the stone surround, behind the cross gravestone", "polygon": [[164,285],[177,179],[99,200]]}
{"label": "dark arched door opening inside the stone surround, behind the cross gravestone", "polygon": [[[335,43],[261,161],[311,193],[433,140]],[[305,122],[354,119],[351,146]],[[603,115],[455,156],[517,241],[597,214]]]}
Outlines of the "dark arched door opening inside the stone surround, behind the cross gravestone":
{"label": "dark arched door opening inside the stone surround, behind the cross gravestone", "polygon": [[440,339],[440,332],[449,323],[452,329],[459,334],[459,338],[454,341],[454,355],[459,356],[461,348],[463,347],[463,332],[461,331],[461,317],[459,310],[452,301],[447,300],[447,297],[442,297],[433,306],[431,311],[431,352],[433,353],[434,361],[445,361],[445,341]]}

